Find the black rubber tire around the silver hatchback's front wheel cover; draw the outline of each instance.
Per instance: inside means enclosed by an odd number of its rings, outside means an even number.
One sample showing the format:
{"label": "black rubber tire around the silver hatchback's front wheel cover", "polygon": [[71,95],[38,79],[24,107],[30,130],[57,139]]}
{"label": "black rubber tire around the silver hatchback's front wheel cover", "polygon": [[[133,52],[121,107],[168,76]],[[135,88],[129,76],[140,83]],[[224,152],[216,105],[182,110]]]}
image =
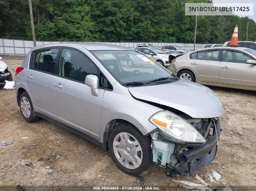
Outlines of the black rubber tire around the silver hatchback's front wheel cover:
{"label": "black rubber tire around the silver hatchback's front wheel cover", "polygon": [[[141,165],[138,168],[135,169],[129,169],[124,167],[116,158],[114,150],[113,150],[113,141],[116,135],[118,135],[121,132],[126,132],[134,136],[139,144],[141,145],[142,149],[142,162]],[[108,147],[110,155],[117,165],[117,167],[122,170],[123,172],[132,175],[132,176],[141,176],[144,173],[148,172],[151,167],[153,166],[152,161],[152,149],[151,149],[151,141],[147,136],[143,136],[141,132],[138,131],[134,126],[130,125],[129,123],[120,123],[111,131],[111,134],[108,139]]]}

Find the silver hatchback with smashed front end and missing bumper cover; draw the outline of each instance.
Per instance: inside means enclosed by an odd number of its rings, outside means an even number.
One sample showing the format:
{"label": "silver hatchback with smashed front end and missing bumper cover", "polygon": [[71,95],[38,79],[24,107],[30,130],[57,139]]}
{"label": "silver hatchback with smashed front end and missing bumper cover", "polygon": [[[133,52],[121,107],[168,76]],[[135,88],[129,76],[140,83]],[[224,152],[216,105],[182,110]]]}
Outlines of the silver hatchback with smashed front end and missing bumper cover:
{"label": "silver hatchback with smashed front end and missing bumper cover", "polygon": [[[144,64],[129,67],[134,56]],[[26,121],[43,118],[88,139],[109,150],[130,175],[153,165],[191,175],[216,155],[218,117],[225,112],[219,97],[134,49],[98,43],[36,46],[15,75]]]}

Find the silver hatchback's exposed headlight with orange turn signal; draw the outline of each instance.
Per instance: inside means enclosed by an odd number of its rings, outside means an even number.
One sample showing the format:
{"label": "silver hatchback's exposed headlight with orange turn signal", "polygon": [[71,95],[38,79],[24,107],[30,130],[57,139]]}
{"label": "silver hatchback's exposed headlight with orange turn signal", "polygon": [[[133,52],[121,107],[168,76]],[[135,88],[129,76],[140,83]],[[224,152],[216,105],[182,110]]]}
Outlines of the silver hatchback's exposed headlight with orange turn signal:
{"label": "silver hatchback's exposed headlight with orange turn signal", "polygon": [[160,134],[178,142],[205,143],[204,137],[185,119],[169,111],[155,113],[149,121]]}

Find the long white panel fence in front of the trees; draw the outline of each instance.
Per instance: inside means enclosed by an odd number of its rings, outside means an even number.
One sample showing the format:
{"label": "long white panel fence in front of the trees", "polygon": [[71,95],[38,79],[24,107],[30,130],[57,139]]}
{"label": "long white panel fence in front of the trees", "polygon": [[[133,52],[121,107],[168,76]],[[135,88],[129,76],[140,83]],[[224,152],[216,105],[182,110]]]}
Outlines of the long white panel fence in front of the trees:
{"label": "long white panel fence in front of the trees", "polygon": [[[76,41],[80,42],[81,41]],[[60,41],[36,41],[36,46],[43,44],[61,43]],[[66,42],[62,42],[66,43]],[[153,43],[153,42],[92,42],[92,43],[103,43],[113,44],[125,47],[134,47],[137,44],[153,44],[156,46],[167,46],[177,45],[187,50],[194,50],[193,43]],[[196,49],[204,47],[205,44],[196,44]],[[33,41],[29,40],[14,40],[14,39],[0,39],[0,54],[4,55],[26,55],[30,49],[34,47]]]}

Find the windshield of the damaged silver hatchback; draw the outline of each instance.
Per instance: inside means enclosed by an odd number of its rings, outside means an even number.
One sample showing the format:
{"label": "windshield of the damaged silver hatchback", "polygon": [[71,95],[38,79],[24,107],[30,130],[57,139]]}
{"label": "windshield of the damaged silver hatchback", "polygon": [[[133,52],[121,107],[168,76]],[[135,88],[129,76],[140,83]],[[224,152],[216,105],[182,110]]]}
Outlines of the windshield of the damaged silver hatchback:
{"label": "windshield of the damaged silver hatchback", "polygon": [[[178,80],[175,75],[157,62],[137,51],[93,50],[90,52],[122,85],[130,82],[133,82],[135,85],[138,82],[140,83],[139,85],[145,85],[147,82],[159,78],[174,78],[173,81]],[[170,83],[171,81],[164,80],[162,82]]]}

